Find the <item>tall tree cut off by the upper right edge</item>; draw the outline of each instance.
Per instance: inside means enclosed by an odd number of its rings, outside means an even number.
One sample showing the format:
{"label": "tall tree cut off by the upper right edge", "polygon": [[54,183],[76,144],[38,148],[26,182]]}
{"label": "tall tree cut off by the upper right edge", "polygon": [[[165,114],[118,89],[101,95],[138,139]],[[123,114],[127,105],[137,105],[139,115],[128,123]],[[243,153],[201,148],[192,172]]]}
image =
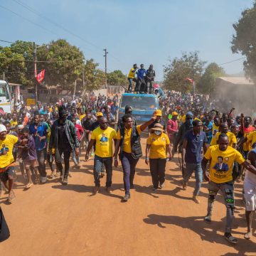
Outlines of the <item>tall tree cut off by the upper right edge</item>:
{"label": "tall tree cut off by the upper right edge", "polygon": [[233,24],[235,35],[231,41],[233,53],[245,55],[244,70],[256,82],[256,1],[251,9],[242,11],[242,17]]}

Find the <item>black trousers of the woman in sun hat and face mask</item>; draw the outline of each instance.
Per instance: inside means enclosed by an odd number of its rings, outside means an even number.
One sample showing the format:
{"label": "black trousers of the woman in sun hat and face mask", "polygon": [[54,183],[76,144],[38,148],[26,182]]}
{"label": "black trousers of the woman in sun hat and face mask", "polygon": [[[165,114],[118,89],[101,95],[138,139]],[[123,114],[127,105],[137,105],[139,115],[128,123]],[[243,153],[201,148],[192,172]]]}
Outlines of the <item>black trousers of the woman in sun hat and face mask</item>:
{"label": "black trousers of the woman in sun hat and face mask", "polygon": [[166,159],[149,159],[150,173],[154,188],[159,187],[159,183],[163,184],[165,179]]}

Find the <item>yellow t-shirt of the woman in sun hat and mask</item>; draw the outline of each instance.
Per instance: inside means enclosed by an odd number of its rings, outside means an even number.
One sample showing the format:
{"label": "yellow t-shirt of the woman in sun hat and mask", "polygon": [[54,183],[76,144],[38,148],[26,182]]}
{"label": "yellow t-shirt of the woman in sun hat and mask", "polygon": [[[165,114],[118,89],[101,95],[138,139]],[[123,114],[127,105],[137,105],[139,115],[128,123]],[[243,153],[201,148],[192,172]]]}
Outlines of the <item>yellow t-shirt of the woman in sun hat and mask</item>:
{"label": "yellow t-shirt of the woman in sun hat and mask", "polygon": [[151,134],[146,139],[146,144],[151,145],[149,151],[150,159],[165,159],[166,158],[166,145],[170,144],[169,137],[162,133],[160,136]]}

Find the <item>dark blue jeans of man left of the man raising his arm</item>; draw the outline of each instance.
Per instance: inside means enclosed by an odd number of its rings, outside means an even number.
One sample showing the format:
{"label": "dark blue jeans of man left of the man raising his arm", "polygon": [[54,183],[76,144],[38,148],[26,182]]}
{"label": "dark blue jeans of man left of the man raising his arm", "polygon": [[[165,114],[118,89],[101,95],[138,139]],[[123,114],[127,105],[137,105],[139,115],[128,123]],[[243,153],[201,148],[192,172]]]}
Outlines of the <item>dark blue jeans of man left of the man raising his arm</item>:
{"label": "dark blue jeans of man left of the man raising his arm", "polygon": [[102,170],[102,165],[105,165],[106,173],[107,173],[107,181],[106,186],[110,187],[112,184],[112,157],[100,157],[95,155],[93,175],[95,178],[95,186],[100,186],[100,172]]}

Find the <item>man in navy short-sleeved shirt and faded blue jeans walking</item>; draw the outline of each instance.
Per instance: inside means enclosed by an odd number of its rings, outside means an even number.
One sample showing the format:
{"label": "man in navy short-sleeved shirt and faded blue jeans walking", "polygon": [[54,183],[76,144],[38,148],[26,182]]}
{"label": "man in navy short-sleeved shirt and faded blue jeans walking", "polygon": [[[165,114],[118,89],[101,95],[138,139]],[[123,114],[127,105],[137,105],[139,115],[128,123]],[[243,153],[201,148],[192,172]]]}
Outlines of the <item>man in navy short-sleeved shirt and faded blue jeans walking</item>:
{"label": "man in navy short-sleeved shirt and faded blue jeans walking", "polygon": [[206,133],[202,132],[202,122],[198,119],[193,121],[193,130],[188,131],[185,134],[182,145],[182,166],[185,169],[183,177],[183,189],[186,189],[188,180],[191,177],[193,171],[196,176],[196,187],[193,192],[193,201],[200,203],[198,200],[198,193],[201,188],[203,181],[203,170],[201,168],[202,161],[202,148],[203,152],[206,153],[208,148]]}

